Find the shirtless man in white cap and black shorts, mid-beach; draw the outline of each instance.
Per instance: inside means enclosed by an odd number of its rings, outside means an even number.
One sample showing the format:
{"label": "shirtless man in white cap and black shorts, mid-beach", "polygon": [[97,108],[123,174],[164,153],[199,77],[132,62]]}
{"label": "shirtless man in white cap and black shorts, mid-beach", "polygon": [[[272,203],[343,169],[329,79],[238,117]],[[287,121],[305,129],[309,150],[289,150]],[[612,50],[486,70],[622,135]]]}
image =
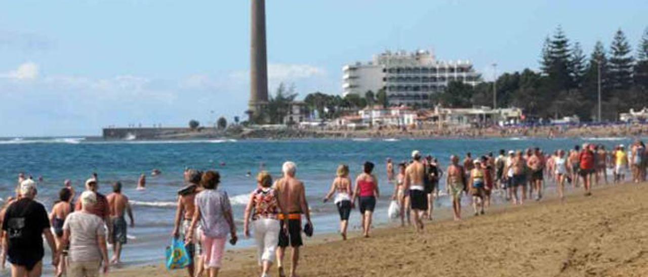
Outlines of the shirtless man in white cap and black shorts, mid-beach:
{"label": "shirtless man in white cap and black shorts, mid-beach", "polygon": [[423,184],[425,166],[421,162],[421,152],[418,150],[411,152],[411,158],[414,161],[405,169],[404,185],[405,190],[410,192],[411,211],[414,214],[414,226],[417,232],[422,232],[422,213],[428,210],[428,198]]}

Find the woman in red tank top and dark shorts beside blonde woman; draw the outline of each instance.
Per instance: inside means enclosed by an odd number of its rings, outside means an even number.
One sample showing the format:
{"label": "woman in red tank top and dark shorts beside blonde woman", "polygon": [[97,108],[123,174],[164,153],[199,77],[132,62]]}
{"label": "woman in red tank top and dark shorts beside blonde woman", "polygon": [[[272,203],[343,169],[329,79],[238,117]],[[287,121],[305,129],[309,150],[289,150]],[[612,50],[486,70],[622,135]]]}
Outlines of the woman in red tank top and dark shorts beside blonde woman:
{"label": "woman in red tank top and dark shorts beside blonde woman", "polygon": [[363,173],[356,179],[356,188],[353,192],[351,205],[358,198],[360,214],[362,214],[362,230],[364,237],[369,238],[369,228],[371,228],[371,217],[373,210],[376,208],[376,199],[378,198],[378,179],[371,174],[373,172],[373,163],[365,162]]}

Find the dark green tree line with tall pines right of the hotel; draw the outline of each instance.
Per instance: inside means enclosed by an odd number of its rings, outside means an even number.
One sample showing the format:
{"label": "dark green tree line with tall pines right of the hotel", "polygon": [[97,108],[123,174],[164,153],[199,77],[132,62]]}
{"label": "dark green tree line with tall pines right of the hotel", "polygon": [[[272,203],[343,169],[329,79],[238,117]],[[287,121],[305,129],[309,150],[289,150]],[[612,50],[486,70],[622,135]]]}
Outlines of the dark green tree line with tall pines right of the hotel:
{"label": "dark green tree line with tall pines right of the hotel", "polygon": [[[619,29],[608,49],[597,41],[586,56],[580,43],[557,27],[544,41],[540,71],[524,69],[497,78],[498,107],[520,107],[538,118],[577,115],[583,121],[597,120],[599,74],[602,120],[618,120],[619,113],[648,106],[648,28],[636,55]],[[492,82],[475,87],[449,83],[433,101],[450,107],[492,106],[492,86]]]}

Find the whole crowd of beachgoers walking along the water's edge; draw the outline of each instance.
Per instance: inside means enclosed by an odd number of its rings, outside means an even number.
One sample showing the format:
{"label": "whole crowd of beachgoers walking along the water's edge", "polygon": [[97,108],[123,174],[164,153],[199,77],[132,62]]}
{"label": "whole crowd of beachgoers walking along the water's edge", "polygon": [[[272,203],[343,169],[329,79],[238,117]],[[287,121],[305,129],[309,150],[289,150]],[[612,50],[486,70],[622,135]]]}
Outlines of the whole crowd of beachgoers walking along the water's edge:
{"label": "whole crowd of beachgoers walking along the water's edge", "polygon": [[[512,205],[523,205],[544,197],[547,181],[556,184],[557,195],[564,201],[566,187],[581,185],[585,196],[592,195],[592,186],[608,183],[645,181],[648,168],[648,150],[642,141],[630,146],[615,146],[607,150],[603,145],[583,144],[571,150],[547,153],[540,148],[527,150],[499,150],[498,155],[466,153],[450,157],[450,164],[442,169],[431,155],[414,150],[406,161],[386,161],[389,184],[393,184],[391,199],[397,205],[397,217],[402,227],[412,226],[423,232],[425,221],[434,218],[434,201],[445,189],[452,199],[454,220],[461,220],[461,197],[470,197],[474,216],[487,212],[494,195]],[[340,216],[341,239],[348,237],[347,227],[351,211],[358,208],[362,236],[371,238],[373,213],[380,196],[378,178],[373,173],[375,164],[367,161],[352,181],[349,166],[340,164],[330,190],[323,201],[332,200]],[[270,276],[276,261],[277,276],[297,276],[299,250],[303,234],[312,236],[314,225],[306,198],[307,186],[297,178],[297,165],[284,162],[283,176],[273,180],[266,171],[257,174],[245,212],[242,235],[253,238],[257,246],[259,275]],[[154,170],[152,175],[159,175]],[[249,173],[248,173],[249,174]],[[218,276],[227,243],[238,241],[229,196],[218,189],[220,174],[186,169],[184,185],[178,190],[178,206],[171,236],[183,239],[191,263],[189,276]],[[440,181],[445,179],[445,188]],[[132,207],[122,193],[122,184],[111,184],[112,193],[98,192],[99,179],[93,173],[85,183],[85,190],[76,194],[70,181],[60,189],[58,201],[48,213],[35,201],[38,183],[20,173],[16,195],[10,197],[0,211],[1,263],[11,263],[12,276],[41,276],[43,268],[43,238],[52,252],[56,276],[98,276],[107,273],[111,265],[121,263],[121,250],[128,241],[128,228],[135,226]],[[146,187],[146,176],[141,175],[137,188]],[[495,194],[497,192],[497,194]],[[128,217],[128,221],[126,221]],[[305,224],[304,224],[305,223]],[[113,245],[109,259],[108,243]],[[286,249],[290,253],[290,269],[286,268]]]}

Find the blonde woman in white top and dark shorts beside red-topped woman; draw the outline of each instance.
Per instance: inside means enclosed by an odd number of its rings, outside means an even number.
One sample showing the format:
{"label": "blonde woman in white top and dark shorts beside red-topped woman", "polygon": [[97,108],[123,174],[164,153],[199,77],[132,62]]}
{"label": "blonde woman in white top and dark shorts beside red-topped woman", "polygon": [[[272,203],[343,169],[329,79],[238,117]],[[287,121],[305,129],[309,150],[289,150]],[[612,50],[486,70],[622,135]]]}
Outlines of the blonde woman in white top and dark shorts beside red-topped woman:
{"label": "blonde woman in white top and dark shorts beside red-topped woman", "polygon": [[349,179],[349,166],[340,164],[338,166],[337,176],[330,185],[329,193],[324,197],[324,202],[329,201],[330,197],[335,195],[333,203],[338,206],[340,213],[340,234],[343,240],[347,239],[347,227],[349,226],[349,216],[351,215],[351,179]]}

